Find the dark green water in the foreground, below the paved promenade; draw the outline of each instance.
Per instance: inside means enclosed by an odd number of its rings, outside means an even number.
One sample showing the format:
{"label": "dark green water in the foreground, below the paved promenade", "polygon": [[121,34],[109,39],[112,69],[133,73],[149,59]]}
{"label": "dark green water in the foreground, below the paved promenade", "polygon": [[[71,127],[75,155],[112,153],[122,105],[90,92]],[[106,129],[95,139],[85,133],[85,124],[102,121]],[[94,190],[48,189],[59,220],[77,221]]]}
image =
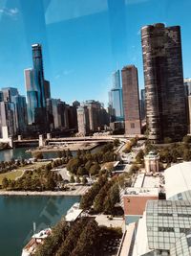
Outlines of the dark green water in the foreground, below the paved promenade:
{"label": "dark green water in the foreground, below the paved promenade", "polygon": [[20,256],[36,230],[52,226],[79,197],[0,197],[0,255]]}

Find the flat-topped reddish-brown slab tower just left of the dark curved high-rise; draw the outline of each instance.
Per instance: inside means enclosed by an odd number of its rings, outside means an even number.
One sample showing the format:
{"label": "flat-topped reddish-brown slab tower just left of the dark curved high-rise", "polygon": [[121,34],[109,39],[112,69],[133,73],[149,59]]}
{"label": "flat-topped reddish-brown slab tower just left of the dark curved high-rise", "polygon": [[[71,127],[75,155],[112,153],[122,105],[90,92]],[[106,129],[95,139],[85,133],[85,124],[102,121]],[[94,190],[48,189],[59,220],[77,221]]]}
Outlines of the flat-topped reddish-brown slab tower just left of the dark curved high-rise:
{"label": "flat-topped reddish-brown slab tower just left of the dark curved high-rise", "polygon": [[125,134],[140,134],[140,113],[138,96],[138,69],[134,65],[123,67],[122,93],[125,117]]}

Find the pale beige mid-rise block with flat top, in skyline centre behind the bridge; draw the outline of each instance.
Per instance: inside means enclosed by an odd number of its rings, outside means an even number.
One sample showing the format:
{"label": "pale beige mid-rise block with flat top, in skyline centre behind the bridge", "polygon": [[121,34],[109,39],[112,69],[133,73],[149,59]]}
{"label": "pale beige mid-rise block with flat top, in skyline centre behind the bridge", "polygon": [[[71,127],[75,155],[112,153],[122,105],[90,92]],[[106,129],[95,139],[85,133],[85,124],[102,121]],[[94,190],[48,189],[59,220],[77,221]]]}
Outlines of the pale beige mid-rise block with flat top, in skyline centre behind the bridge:
{"label": "pale beige mid-rise block with flat top, in skyline centre behind the bridge", "polygon": [[77,127],[78,133],[82,136],[90,132],[89,111],[86,105],[77,107]]}

